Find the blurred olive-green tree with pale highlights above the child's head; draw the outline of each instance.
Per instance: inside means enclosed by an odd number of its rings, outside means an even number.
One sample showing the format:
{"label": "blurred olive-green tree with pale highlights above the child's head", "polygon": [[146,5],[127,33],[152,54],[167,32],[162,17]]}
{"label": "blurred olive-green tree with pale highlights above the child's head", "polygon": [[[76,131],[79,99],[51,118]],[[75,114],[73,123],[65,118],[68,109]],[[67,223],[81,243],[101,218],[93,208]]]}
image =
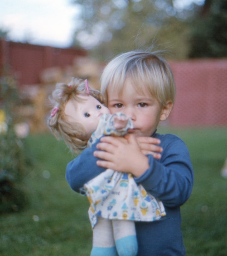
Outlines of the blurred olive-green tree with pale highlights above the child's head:
{"label": "blurred olive-green tree with pale highlights above the child's head", "polygon": [[177,8],[176,2],[73,0],[81,6],[74,44],[91,49],[96,57],[111,58],[122,51],[156,45],[171,52],[171,58],[185,58],[189,51],[186,18],[193,15],[198,6],[192,3],[187,9]]}

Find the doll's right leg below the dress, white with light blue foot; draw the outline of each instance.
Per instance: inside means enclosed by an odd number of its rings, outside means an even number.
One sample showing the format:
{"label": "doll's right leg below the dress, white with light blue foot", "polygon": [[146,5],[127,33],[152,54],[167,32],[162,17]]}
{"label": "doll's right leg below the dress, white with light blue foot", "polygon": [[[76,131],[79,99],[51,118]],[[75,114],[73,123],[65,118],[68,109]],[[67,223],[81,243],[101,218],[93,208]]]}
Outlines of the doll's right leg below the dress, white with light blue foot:
{"label": "doll's right leg below the dress, white with light blue foot", "polygon": [[134,221],[113,220],[114,240],[119,256],[136,256],[138,251]]}

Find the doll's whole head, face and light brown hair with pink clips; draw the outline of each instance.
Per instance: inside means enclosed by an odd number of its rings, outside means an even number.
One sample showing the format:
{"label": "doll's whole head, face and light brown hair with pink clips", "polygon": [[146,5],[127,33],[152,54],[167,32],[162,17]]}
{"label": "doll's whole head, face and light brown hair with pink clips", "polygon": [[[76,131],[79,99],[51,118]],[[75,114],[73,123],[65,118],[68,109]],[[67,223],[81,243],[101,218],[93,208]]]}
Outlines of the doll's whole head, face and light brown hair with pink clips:
{"label": "doll's whole head, face and light brown hair with pink clips", "polygon": [[[57,139],[62,137],[69,148],[78,153],[78,149],[86,147],[91,133],[97,126],[92,121],[89,124],[89,120],[93,118],[89,112],[94,109],[102,109],[105,112],[107,109],[102,105],[102,94],[95,89],[87,89],[85,81],[72,78],[69,84],[56,84],[50,101],[53,106],[48,119],[51,131]],[[97,123],[98,120],[99,117]]]}

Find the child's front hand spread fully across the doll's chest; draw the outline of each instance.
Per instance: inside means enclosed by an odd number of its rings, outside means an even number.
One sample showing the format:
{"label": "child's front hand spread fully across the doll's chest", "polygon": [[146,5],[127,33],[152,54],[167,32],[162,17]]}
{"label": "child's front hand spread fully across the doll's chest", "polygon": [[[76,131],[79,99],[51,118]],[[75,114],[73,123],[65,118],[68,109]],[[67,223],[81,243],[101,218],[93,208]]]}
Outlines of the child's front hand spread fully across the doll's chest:
{"label": "child's front hand spread fully across the doll's chest", "polygon": [[102,151],[94,151],[94,156],[101,158],[96,163],[103,168],[131,173],[138,177],[148,168],[148,157],[145,156],[133,134],[122,137],[105,136],[96,147]]}

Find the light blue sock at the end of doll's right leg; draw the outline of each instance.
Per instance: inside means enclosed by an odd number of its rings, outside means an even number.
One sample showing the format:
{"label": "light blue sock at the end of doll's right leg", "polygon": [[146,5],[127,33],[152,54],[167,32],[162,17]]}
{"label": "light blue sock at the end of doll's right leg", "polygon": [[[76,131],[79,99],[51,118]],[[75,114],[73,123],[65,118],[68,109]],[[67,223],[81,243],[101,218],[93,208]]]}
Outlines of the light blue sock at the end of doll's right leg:
{"label": "light blue sock at the end of doll's right leg", "polygon": [[136,235],[122,237],[115,241],[119,256],[136,256],[138,244]]}

